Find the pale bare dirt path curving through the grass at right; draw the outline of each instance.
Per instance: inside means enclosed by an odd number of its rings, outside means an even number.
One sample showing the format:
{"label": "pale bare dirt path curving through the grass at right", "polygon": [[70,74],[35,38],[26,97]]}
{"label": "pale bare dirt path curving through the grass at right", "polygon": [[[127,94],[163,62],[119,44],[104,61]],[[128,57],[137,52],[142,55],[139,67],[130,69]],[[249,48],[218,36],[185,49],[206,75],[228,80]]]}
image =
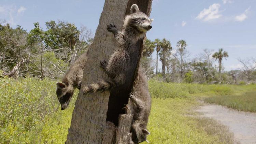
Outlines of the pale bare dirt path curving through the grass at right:
{"label": "pale bare dirt path curving through the grass at right", "polygon": [[241,144],[256,144],[256,113],[239,112],[220,105],[200,106],[197,110],[204,117],[213,118],[229,126],[236,141]]}

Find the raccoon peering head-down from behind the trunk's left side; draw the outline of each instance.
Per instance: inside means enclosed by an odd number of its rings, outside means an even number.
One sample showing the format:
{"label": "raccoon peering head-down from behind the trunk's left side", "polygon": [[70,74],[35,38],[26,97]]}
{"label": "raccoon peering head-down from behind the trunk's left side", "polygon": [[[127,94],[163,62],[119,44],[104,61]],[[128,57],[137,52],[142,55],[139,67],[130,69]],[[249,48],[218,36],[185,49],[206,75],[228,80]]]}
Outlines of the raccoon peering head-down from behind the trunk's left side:
{"label": "raccoon peering head-down from behind the trunk's left side", "polygon": [[62,82],[56,83],[56,94],[61,104],[61,110],[65,110],[68,107],[75,88],[80,89],[81,87],[87,54],[88,50],[71,64],[69,70],[62,78]]}

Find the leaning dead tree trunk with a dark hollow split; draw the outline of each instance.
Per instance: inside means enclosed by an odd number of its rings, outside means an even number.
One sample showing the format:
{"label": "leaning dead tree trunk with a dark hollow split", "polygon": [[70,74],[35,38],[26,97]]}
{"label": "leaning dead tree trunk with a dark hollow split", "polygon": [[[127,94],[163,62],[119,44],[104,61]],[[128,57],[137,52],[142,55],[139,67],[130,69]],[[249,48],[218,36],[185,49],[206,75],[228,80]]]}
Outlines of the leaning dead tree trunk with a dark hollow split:
{"label": "leaning dead tree trunk with a dark hollow split", "polygon": [[[82,87],[108,78],[99,67],[100,61],[107,60],[115,48],[113,34],[106,30],[106,25],[114,23],[121,30],[124,17],[130,13],[132,4],[137,4],[142,12],[149,15],[151,3],[152,0],[105,0],[94,41],[88,52]],[[137,68],[135,71],[131,71],[131,73],[134,73],[133,82],[137,78],[143,41],[138,44],[138,47]],[[132,88],[130,91],[132,91]],[[129,93],[124,94],[128,95]],[[133,118],[133,109],[129,106],[131,104],[127,101],[128,106],[125,114],[119,116],[118,126],[115,126],[113,123],[106,121],[109,97],[109,91],[90,93],[86,96],[83,96],[82,90],[79,92],[66,144],[128,143],[128,133]]]}

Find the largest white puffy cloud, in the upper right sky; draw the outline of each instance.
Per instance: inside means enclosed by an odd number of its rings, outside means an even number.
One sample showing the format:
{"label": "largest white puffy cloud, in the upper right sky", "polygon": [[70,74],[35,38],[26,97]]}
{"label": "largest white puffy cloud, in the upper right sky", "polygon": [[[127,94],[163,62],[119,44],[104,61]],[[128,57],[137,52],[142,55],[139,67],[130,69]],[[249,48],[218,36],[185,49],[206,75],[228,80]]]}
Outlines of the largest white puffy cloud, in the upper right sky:
{"label": "largest white puffy cloud, in the upper right sky", "polygon": [[203,9],[203,11],[201,11],[198,14],[196,19],[203,20],[203,21],[210,21],[213,19],[220,18],[222,16],[221,14],[219,14],[220,7],[221,5],[219,3],[214,3],[213,5],[209,6],[208,9]]}

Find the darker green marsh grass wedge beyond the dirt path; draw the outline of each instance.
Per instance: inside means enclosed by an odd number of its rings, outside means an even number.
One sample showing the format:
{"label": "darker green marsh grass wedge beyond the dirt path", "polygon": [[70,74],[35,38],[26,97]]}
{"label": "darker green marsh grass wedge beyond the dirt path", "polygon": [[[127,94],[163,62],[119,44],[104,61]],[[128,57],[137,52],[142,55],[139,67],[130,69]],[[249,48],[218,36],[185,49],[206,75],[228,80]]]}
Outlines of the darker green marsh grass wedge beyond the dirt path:
{"label": "darker green marsh grass wedge beyond the dirt path", "polygon": [[246,92],[242,95],[207,97],[204,101],[227,106],[239,111],[256,112],[256,91]]}

